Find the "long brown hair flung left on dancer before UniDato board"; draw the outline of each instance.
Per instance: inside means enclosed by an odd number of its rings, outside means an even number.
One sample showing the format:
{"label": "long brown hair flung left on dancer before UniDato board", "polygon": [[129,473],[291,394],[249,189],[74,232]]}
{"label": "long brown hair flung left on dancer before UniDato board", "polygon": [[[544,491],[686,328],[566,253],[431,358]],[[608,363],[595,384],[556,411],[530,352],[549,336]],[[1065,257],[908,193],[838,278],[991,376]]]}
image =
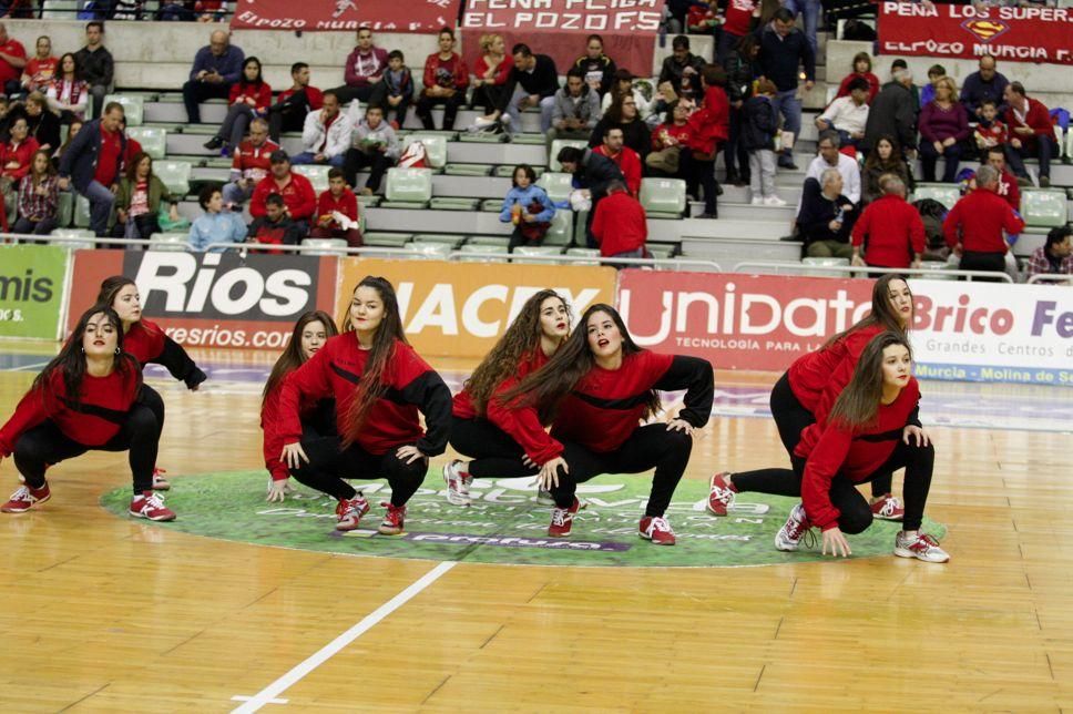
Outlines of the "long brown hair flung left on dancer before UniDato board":
{"label": "long brown hair flung left on dancer before UniDato board", "polygon": [[[626,325],[622,322],[619,310],[611,305],[596,303],[585,310],[585,314],[581,316],[578,329],[570,335],[563,346],[559,348],[559,351],[548,360],[546,365],[525,377],[517,386],[508,389],[498,399],[502,400],[503,404],[510,404],[521,398],[522,404],[536,407],[542,422],[551,422],[555,418],[562,400],[573,391],[581,378],[596,365],[596,359],[589,348],[589,319],[595,313],[605,313],[619,327],[619,333],[622,335],[623,357],[642,351],[626,330]],[[642,418],[647,419],[657,414],[660,408],[658,395],[650,390]]]}

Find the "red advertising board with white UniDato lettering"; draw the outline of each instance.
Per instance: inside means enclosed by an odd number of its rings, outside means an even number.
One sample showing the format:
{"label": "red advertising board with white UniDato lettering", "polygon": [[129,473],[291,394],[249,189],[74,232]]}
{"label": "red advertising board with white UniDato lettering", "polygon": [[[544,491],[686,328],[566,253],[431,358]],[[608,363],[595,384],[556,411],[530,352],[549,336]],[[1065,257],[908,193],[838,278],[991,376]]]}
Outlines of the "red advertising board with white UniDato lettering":
{"label": "red advertising board with white UniDato lettering", "polygon": [[781,371],[860,319],[871,280],[622,271],[619,308],[642,347],[717,369]]}

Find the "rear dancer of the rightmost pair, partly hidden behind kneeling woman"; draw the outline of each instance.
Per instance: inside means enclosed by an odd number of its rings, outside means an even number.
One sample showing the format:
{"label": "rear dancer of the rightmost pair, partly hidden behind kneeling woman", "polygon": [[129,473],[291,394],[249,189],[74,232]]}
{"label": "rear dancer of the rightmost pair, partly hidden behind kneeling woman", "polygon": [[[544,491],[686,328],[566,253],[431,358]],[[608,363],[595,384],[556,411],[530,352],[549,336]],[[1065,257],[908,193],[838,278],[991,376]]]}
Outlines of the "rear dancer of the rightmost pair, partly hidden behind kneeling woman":
{"label": "rear dancer of the rightmost pair, partly hidden behind kneeling woman", "polygon": [[[795,360],[775,384],[771,416],[791,459],[801,431],[827,417],[838,395],[852,378],[868,343],[885,332],[905,336],[912,324],[912,293],[906,278],[893,273],[883,275],[872,285],[871,313],[828,339],[818,350]],[[716,473],[711,486],[708,511],[726,516],[735,493],[730,473]],[[905,509],[890,494],[890,487],[889,473],[872,480],[872,514],[882,520],[900,521]]]}

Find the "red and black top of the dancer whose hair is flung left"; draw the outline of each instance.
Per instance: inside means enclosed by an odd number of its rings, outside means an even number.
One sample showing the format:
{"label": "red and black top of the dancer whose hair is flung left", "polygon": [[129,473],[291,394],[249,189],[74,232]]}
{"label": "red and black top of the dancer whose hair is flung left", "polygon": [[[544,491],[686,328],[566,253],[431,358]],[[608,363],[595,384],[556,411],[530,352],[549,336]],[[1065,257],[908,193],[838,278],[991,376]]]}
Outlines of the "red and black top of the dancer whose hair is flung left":
{"label": "red and black top of the dancer whose hair is flung left", "polygon": [[685,389],[685,408],[678,418],[694,427],[708,422],[715,394],[712,364],[642,349],[624,355],[619,369],[589,370],[560,405],[551,436],[596,452],[614,451],[640,426],[653,389]]}

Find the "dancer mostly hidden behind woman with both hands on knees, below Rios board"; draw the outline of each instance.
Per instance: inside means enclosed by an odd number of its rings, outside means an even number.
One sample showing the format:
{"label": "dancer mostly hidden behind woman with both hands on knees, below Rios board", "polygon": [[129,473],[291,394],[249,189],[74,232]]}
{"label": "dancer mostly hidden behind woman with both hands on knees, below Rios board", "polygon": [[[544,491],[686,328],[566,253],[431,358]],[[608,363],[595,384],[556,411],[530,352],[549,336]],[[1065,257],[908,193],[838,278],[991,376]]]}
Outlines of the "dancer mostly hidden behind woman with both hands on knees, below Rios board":
{"label": "dancer mostly hidden behind woman with both hands on knees, below Rios board", "polygon": [[[260,402],[260,429],[264,431],[265,468],[272,479],[268,481],[269,503],[278,503],[290,492],[287,479],[290,473],[287,465],[279,460],[283,451],[283,435],[279,432],[279,394],[283,382],[295,369],[309,361],[309,358],[320,351],[328,338],[335,337],[339,330],[331,316],[323,310],[310,310],[302,315],[295,323],[294,333],[287,348],[279,355],[279,359],[272,367],[268,381],[265,382],[264,397]],[[303,436],[331,436],[335,429],[335,400],[319,401],[303,400],[299,405]]]}

